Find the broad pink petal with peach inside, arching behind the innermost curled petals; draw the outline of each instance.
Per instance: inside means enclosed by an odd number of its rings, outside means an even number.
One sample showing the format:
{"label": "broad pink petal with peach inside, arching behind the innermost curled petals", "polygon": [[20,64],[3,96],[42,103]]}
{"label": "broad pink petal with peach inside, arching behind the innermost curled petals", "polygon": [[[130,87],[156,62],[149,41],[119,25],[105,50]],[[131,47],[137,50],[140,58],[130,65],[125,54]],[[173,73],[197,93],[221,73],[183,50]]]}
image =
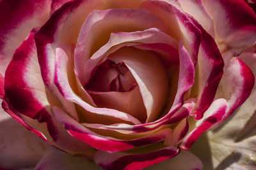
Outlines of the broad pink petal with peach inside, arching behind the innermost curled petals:
{"label": "broad pink petal with peach inside, arching behind the innermost curled petals", "polygon": [[[75,50],[75,69],[77,77],[85,84],[84,64],[105,43],[111,33],[143,31],[148,28],[166,32],[166,26],[156,15],[146,10],[114,9],[90,13],[79,33]],[[104,29],[104,31],[102,31]]]}

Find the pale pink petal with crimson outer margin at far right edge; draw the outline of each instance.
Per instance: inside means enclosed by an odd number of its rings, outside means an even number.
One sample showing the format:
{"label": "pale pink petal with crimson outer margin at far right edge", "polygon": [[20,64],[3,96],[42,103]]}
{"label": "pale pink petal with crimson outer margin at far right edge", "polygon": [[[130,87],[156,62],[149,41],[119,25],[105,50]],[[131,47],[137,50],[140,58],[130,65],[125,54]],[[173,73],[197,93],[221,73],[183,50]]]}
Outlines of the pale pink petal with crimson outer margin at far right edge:
{"label": "pale pink petal with crimson outer margin at far right edge", "polygon": [[225,98],[228,102],[228,109],[221,122],[226,120],[250,96],[255,82],[250,68],[239,58],[233,57],[232,52],[226,52],[223,56],[225,59],[224,74],[216,98]]}

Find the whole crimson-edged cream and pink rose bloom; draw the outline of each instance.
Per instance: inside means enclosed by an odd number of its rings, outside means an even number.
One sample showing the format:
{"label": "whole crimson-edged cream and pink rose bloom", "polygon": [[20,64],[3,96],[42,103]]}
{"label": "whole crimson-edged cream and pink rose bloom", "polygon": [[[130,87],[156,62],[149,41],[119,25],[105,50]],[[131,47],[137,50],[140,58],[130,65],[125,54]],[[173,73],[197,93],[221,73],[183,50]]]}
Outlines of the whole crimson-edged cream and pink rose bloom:
{"label": "whole crimson-edged cream and pink rose bloom", "polygon": [[4,111],[103,169],[188,150],[254,85],[239,58],[256,15],[242,0],[3,0],[0,13]]}

